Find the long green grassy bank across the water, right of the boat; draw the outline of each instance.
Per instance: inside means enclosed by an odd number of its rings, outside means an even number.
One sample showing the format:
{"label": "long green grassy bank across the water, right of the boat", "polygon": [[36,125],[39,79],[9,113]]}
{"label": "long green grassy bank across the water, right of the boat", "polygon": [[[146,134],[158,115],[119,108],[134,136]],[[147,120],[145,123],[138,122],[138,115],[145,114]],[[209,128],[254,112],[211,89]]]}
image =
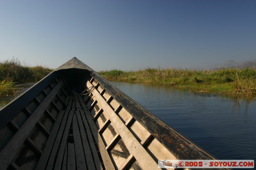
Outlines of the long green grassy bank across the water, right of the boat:
{"label": "long green grassy bank across the water, right of the boat", "polygon": [[196,92],[215,92],[256,96],[256,70],[251,68],[221,70],[154,69],[139,71],[100,71],[110,81],[143,82],[175,86]]}

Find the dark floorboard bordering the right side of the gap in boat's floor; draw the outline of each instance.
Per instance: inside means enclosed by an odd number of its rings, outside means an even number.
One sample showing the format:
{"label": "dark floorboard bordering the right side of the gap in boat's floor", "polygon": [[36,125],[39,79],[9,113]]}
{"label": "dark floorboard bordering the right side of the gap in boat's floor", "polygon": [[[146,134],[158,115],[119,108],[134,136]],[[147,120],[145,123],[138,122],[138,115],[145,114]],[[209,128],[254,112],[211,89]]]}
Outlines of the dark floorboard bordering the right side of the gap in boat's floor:
{"label": "dark floorboard bordering the right side of the gap in boat's floor", "polygon": [[[76,110],[76,114],[79,114],[79,111]],[[84,158],[84,151],[83,151],[83,144],[80,137],[80,131],[77,123],[76,114],[73,116],[73,135],[74,135],[74,146],[75,146],[75,153],[76,153],[76,168],[79,169],[87,169],[85,158]]]}

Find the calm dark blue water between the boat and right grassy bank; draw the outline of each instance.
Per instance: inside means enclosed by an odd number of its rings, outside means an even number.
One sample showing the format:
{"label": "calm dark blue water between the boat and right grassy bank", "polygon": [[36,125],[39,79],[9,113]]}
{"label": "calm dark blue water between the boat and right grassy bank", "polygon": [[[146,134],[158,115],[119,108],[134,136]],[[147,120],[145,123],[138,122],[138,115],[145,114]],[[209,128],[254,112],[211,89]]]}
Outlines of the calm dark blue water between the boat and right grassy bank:
{"label": "calm dark blue water between the boat and right grassy bank", "polygon": [[168,86],[111,82],[218,159],[256,160],[256,101]]}

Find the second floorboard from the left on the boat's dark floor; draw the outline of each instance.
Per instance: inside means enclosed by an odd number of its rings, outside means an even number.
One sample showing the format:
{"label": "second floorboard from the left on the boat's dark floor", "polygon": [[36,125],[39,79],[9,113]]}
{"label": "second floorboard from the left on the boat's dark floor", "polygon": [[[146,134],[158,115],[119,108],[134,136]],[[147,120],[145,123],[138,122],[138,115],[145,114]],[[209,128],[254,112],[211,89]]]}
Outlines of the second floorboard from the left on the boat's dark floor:
{"label": "second floorboard from the left on the boat's dark floor", "polygon": [[[60,141],[61,141],[63,132],[64,132],[64,130],[66,132],[67,129],[69,129],[68,123],[66,125],[67,118],[68,118],[68,121],[70,121],[70,122],[72,121],[72,116],[70,116],[68,111],[66,111],[65,114],[64,114],[63,120],[62,120],[61,125],[60,125],[60,129],[59,129],[57,137],[56,137],[56,139],[54,141],[54,145],[52,147],[52,152],[51,152],[51,155],[50,155],[50,158],[49,158],[49,161],[48,161],[46,169],[52,169],[53,168],[53,165],[54,165],[54,162],[55,162],[55,157],[56,157],[56,154],[58,153],[58,149],[59,149],[59,146],[60,146]],[[56,165],[61,165],[61,162],[58,162],[58,164],[56,164]]]}

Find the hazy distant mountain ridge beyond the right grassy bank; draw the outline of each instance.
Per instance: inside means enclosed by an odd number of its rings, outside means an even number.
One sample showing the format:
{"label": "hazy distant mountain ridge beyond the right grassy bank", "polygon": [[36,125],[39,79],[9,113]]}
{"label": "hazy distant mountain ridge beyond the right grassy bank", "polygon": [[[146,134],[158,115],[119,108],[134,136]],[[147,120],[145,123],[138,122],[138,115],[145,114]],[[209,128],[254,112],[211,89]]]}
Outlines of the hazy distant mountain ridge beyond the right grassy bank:
{"label": "hazy distant mountain ridge beyond the right grassy bank", "polygon": [[244,61],[244,62],[241,62],[241,63],[236,63],[234,62],[233,60],[229,60],[223,64],[213,64],[213,65],[209,65],[209,66],[206,66],[205,68],[206,69],[209,69],[209,70],[219,70],[219,69],[225,69],[225,68],[239,68],[239,69],[244,69],[244,68],[254,68],[256,69],[256,60],[253,60],[253,61]]}

